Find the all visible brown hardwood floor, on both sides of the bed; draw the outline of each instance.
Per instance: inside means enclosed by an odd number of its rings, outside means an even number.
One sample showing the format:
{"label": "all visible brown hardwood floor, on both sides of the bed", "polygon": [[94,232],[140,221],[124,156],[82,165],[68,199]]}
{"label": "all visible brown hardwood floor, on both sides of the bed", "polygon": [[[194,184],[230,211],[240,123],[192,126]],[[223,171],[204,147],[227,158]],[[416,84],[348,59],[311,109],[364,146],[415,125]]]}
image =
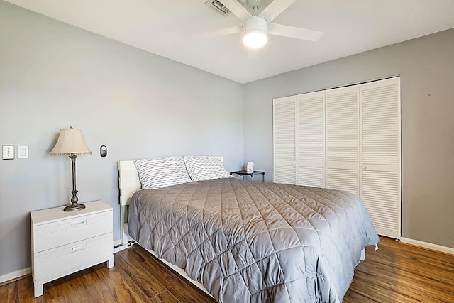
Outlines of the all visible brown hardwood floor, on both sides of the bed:
{"label": "all visible brown hardwood floor, on both sides of the bed", "polygon": [[[454,302],[454,256],[381,238],[367,248],[344,302]],[[44,285],[33,298],[31,276],[0,286],[0,302],[215,302],[140,246]]]}

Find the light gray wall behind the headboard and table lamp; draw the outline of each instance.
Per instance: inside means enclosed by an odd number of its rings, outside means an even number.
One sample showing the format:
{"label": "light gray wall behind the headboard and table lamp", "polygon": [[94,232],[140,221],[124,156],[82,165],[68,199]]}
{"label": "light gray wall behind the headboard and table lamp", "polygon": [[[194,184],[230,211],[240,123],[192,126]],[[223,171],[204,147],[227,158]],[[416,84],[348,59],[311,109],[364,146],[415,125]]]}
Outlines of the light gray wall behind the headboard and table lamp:
{"label": "light gray wall behind the headboard and table lamp", "polygon": [[[223,155],[243,165],[243,85],[0,1],[0,276],[31,265],[29,212],[69,204],[71,162],[50,157],[60,128],[81,128],[79,201],[114,206],[117,161]],[[99,156],[100,145],[109,154]]]}

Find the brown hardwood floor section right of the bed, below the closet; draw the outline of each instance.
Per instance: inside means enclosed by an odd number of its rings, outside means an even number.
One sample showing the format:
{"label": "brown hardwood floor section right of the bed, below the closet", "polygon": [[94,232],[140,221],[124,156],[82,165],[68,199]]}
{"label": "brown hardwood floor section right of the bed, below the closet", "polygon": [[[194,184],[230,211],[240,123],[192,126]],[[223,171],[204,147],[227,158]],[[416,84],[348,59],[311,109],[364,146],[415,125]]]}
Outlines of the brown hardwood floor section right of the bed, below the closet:
{"label": "brown hardwood floor section right of the bed, below the closet", "polygon": [[366,249],[344,302],[454,302],[454,255],[380,237]]}

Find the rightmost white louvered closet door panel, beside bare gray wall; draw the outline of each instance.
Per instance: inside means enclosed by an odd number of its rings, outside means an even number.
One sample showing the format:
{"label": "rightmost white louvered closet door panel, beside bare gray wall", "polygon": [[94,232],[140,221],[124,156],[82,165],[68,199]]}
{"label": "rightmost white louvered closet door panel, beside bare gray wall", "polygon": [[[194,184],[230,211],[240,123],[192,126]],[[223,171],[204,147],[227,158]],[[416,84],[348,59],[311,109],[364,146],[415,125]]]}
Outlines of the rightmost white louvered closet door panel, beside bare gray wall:
{"label": "rightmost white louvered closet door panel, beside bare gray wall", "polygon": [[360,197],[377,233],[400,238],[400,78],[362,84],[360,98]]}

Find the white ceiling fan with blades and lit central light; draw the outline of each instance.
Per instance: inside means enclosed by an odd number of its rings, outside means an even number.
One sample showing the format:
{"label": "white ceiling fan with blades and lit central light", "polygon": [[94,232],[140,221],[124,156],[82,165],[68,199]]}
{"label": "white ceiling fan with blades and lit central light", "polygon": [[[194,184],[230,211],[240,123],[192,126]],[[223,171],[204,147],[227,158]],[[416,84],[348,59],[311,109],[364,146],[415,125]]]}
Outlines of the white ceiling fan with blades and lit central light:
{"label": "white ceiling fan with blades and lit central light", "polygon": [[282,11],[287,9],[296,0],[274,0],[260,13],[260,6],[263,0],[247,0],[247,5],[255,12],[252,15],[237,0],[221,0],[243,25],[232,28],[223,28],[218,31],[201,34],[204,37],[215,37],[219,35],[231,35],[243,31],[243,43],[248,48],[260,48],[268,41],[267,35],[282,35],[289,38],[316,41],[323,35],[319,31],[311,31],[306,28],[296,28],[294,26],[284,26],[282,24],[271,23]]}

